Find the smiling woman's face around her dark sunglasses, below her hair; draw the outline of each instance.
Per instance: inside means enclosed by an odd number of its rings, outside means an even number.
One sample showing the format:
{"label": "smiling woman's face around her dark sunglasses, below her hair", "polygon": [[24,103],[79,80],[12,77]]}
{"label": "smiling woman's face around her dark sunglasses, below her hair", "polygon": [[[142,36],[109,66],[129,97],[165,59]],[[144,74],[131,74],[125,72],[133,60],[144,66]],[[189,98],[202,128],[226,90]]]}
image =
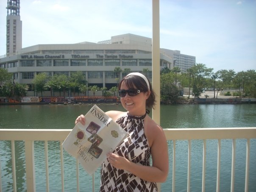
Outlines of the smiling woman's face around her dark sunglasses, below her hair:
{"label": "smiling woman's face around her dark sunglasses, below her hair", "polygon": [[[128,90],[125,82],[123,81],[120,89]],[[134,89],[138,89],[134,87]],[[146,113],[146,100],[148,98],[148,92],[140,92],[138,95],[129,96],[127,93],[125,97],[121,97],[121,103],[131,115],[142,116]]]}

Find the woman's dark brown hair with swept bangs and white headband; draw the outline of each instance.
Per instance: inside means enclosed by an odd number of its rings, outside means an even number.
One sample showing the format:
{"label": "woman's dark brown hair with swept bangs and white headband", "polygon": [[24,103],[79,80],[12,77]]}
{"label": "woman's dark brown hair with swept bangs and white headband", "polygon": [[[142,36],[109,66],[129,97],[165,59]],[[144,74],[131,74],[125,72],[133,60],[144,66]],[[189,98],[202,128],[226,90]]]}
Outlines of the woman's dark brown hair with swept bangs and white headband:
{"label": "woman's dark brown hair with swept bangs and white headband", "polygon": [[[148,79],[147,79],[147,81],[148,81]],[[122,82],[124,82],[126,84],[128,89],[136,87],[136,89],[139,89],[141,92],[147,92],[148,91],[146,81],[142,77],[140,77],[138,75],[128,75],[128,76],[125,76],[120,81],[120,83],[118,85],[118,89],[119,90],[120,90],[120,87],[122,85]],[[149,82],[149,87],[150,87],[150,95],[148,96],[148,98],[146,100],[146,107],[148,109],[151,109],[151,108],[154,109],[154,106],[156,104],[156,93],[153,91],[150,82]]]}

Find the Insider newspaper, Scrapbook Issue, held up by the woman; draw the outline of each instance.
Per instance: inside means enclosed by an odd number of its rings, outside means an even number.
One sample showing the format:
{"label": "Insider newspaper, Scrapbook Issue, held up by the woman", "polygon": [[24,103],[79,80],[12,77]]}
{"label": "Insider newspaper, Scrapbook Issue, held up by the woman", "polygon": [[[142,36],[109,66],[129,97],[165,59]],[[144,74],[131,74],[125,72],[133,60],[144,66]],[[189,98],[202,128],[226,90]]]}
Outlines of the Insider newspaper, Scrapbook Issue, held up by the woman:
{"label": "Insider newspaper, Scrapbook Issue, held up by the woman", "polygon": [[85,125],[78,122],[62,146],[92,175],[107,158],[106,154],[125,139],[127,132],[96,105],[85,119]]}

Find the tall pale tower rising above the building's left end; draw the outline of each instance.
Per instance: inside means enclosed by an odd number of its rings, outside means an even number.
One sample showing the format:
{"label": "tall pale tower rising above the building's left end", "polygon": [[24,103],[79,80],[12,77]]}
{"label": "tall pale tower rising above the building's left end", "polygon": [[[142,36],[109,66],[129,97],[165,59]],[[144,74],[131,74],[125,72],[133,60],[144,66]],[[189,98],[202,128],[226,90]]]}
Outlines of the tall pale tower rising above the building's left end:
{"label": "tall pale tower rising above the building's left end", "polygon": [[22,49],[22,21],[19,16],[19,0],[7,0],[6,55]]}

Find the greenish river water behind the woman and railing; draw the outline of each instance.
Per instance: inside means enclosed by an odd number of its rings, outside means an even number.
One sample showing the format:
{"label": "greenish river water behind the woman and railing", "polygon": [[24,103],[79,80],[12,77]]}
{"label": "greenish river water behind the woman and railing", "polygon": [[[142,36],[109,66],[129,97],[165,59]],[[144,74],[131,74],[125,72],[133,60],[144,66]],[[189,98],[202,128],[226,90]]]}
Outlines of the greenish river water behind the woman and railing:
{"label": "greenish river water behind the woman and railing", "polygon": [[[71,129],[79,114],[86,114],[92,106],[62,105],[12,105],[0,106],[0,128]],[[103,111],[122,110],[121,105],[99,105]],[[256,127],[256,105],[172,105],[161,106],[161,126],[163,128],[214,128],[214,127]],[[251,139],[249,191],[256,191],[256,139]],[[167,182],[161,185],[162,192],[172,189],[173,142],[168,141],[170,169]],[[203,141],[191,141],[191,181],[190,191],[201,191]],[[237,139],[235,192],[244,191],[246,140]],[[24,142],[15,142],[17,191],[26,191]],[[46,189],[45,143],[35,142],[36,191]],[[50,191],[61,191],[60,143],[48,142]],[[206,191],[216,191],[217,140],[206,141]],[[220,191],[230,191],[232,140],[221,142]],[[176,142],[175,191],[186,191],[187,141]],[[0,141],[0,161],[3,192],[13,191],[11,170],[11,142]],[[75,159],[64,150],[65,191],[76,190]],[[92,178],[79,165],[81,191],[92,191]],[[95,191],[100,185],[100,169],[95,173]]]}

